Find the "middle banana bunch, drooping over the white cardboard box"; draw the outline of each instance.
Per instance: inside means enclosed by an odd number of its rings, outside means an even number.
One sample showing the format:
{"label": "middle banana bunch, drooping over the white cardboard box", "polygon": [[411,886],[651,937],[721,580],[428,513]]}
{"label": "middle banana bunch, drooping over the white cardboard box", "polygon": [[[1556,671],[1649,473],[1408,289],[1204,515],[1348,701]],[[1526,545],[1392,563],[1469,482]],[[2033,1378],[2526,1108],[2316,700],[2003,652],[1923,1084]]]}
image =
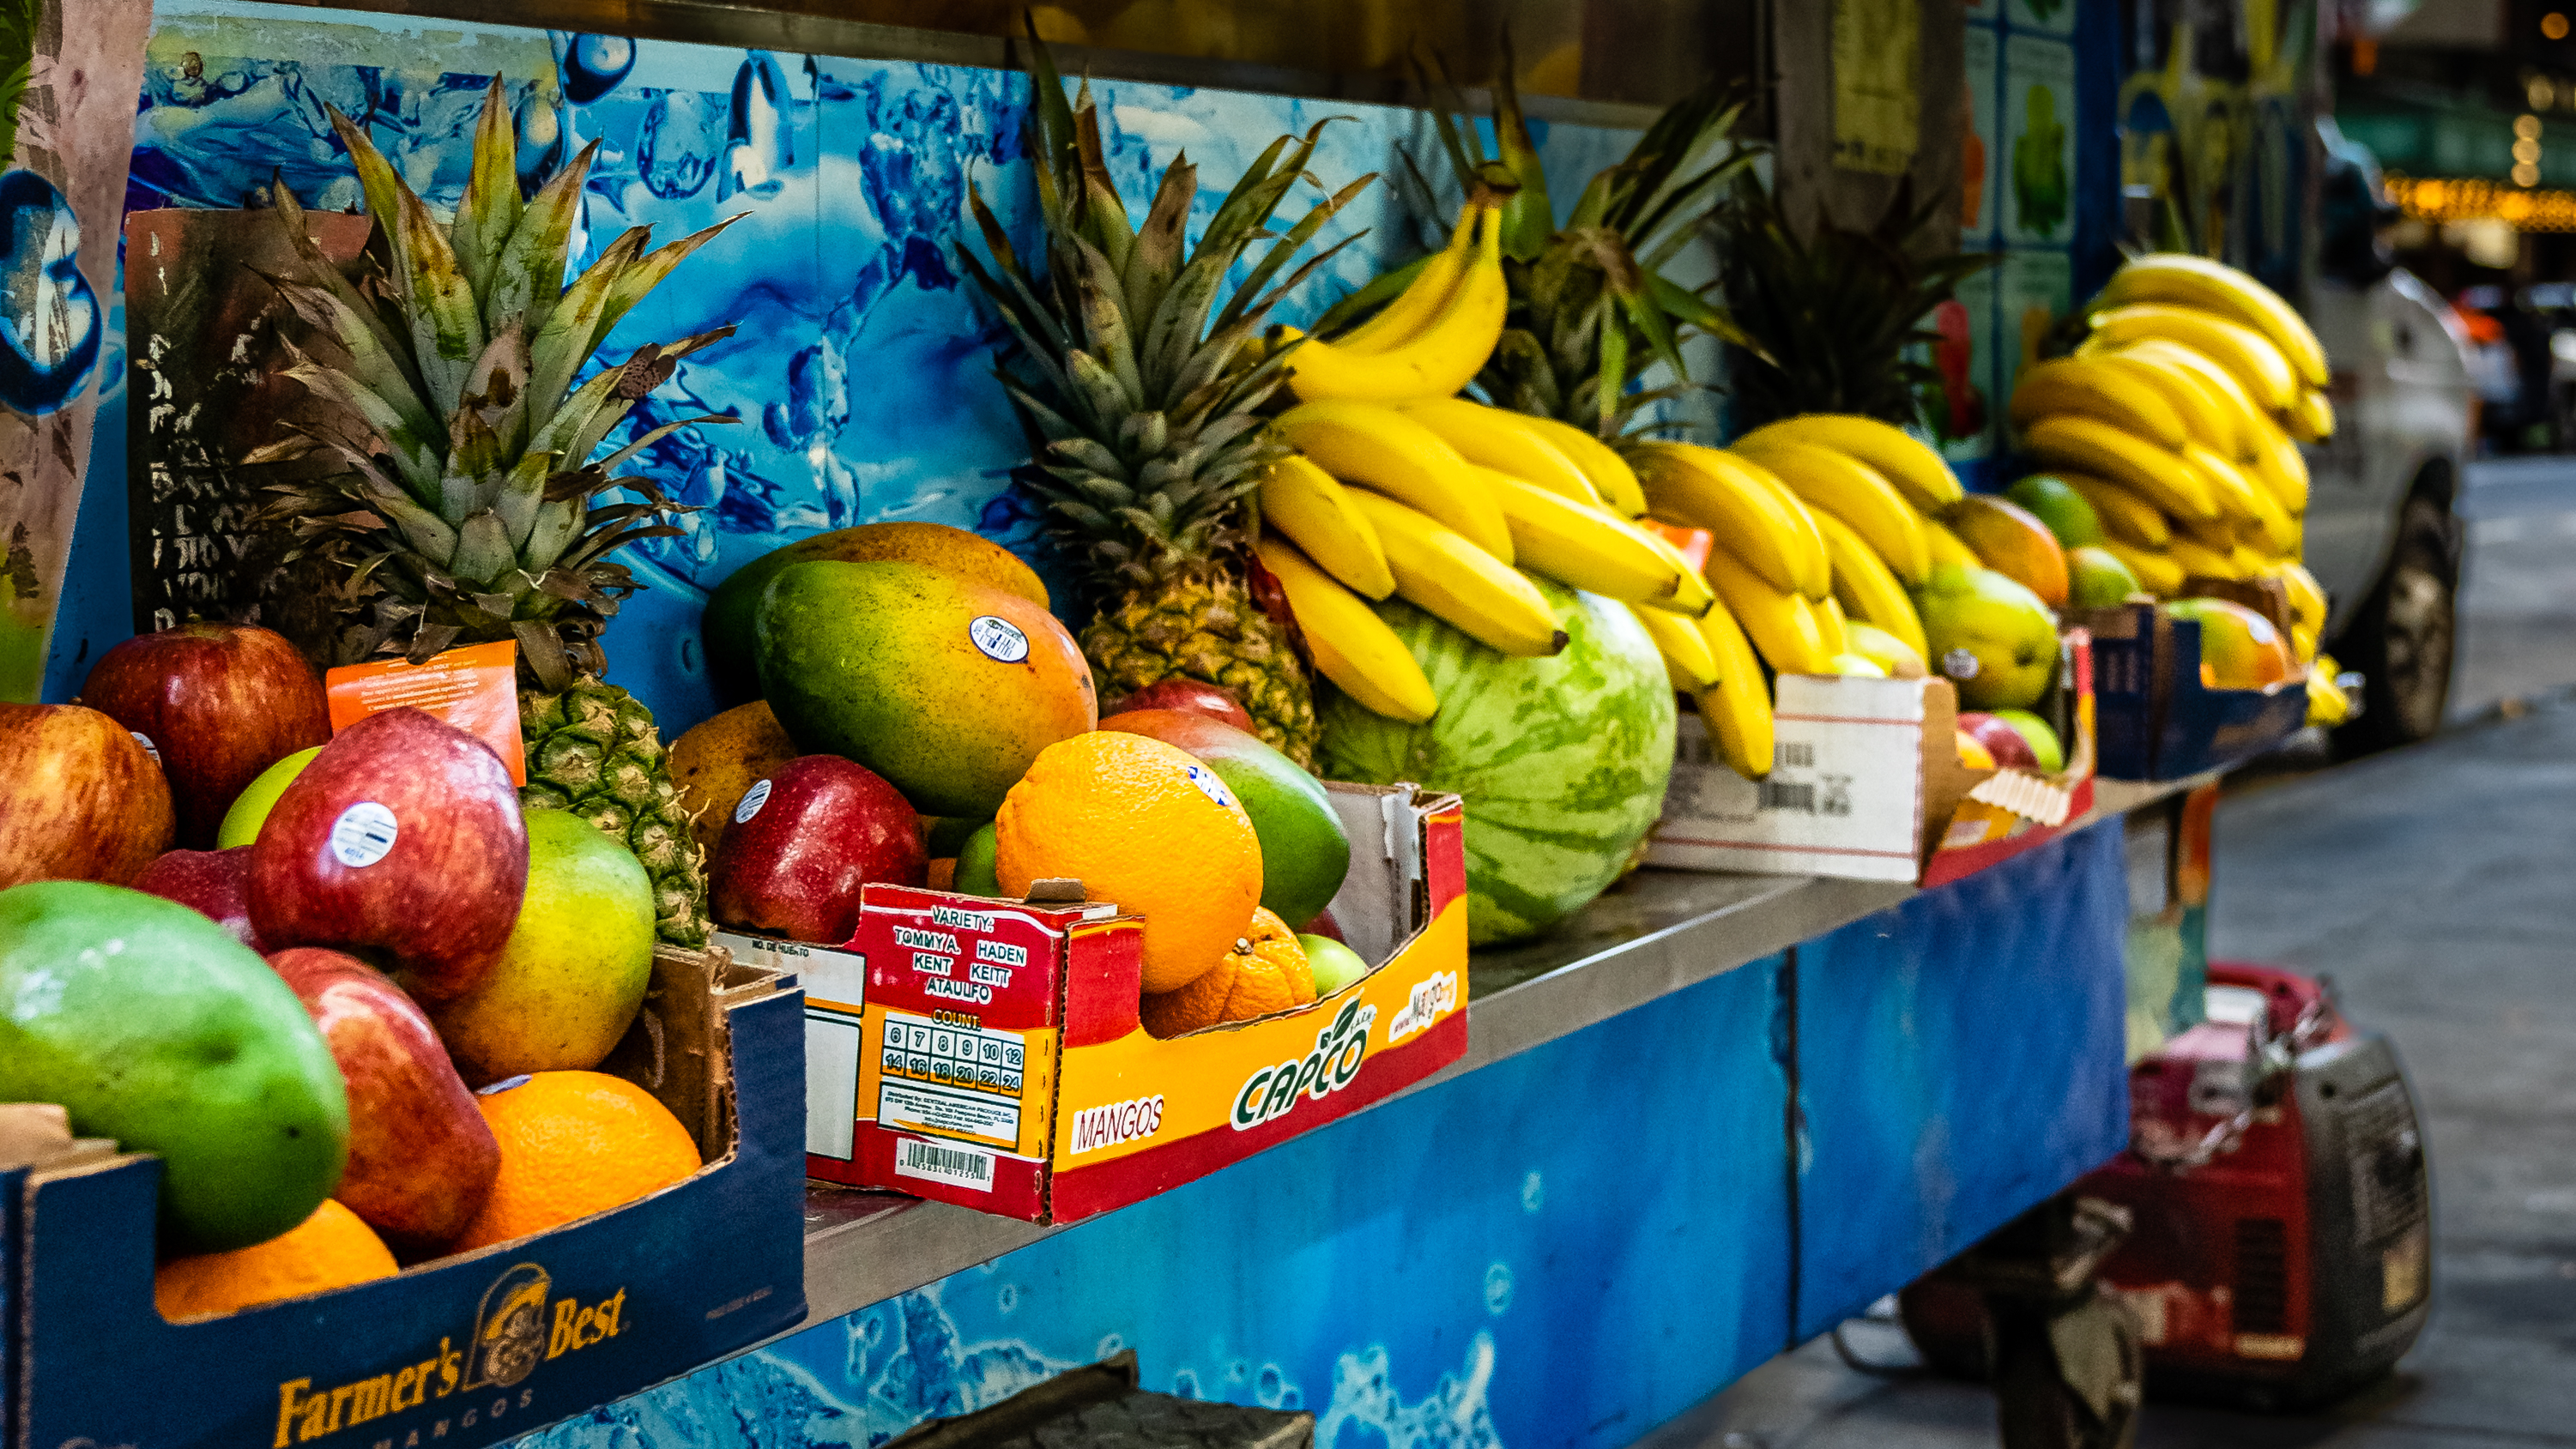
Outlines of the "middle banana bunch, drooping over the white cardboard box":
{"label": "middle banana bunch, drooping over the white cardboard box", "polygon": [[1708,530],[1718,605],[1698,620],[1713,672],[1692,690],[1726,764],[1770,775],[1772,695],[1762,674],[1919,677],[1911,592],[1942,558],[1976,564],[1929,515],[1960,497],[1940,453],[1875,417],[1803,414],[1734,448],[1636,443],[1646,512]]}

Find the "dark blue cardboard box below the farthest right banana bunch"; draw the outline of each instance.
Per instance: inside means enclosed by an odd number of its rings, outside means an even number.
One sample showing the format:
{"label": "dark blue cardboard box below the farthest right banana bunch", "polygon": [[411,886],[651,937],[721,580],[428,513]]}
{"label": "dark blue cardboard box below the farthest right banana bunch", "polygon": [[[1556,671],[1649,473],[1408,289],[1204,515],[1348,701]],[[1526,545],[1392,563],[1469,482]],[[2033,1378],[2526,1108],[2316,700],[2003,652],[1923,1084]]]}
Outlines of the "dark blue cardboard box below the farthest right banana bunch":
{"label": "dark blue cardboard box below the farthest right banana bunch", "polygon": [[[2195,595],[2231,597],[2287,633],[2287,597],[2272,579],[2195,579]],[[2272,749],[2308,723],[2308,685],[2210,690],[2200,682],[2200,623],[2159,605],[2084,615],[2094,636],[2102,775],[2184,780]]]}

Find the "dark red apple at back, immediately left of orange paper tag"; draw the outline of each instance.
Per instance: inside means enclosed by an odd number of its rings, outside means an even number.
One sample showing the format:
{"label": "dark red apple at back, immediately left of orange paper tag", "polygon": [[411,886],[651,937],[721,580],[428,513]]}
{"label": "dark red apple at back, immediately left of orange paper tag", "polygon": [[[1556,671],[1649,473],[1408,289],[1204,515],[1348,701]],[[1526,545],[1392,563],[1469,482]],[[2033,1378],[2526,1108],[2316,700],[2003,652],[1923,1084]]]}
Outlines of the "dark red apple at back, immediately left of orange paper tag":
{"label": "dark red apple at back, immediately left of orange paper tag", "polygon": [[178,844],[206,849],[260,770],[330,739],[330,700],[286,636],[245,623],[183,623],[98,656],[80,703],[160,749]]}

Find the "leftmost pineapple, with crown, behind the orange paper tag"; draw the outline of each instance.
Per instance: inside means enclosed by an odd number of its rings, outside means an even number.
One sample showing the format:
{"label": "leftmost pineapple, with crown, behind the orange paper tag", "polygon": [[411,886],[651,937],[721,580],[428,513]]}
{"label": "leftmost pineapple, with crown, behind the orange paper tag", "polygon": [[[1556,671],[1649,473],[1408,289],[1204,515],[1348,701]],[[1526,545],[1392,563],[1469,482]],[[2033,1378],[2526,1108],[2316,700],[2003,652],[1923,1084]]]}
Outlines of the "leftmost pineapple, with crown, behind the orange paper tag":
{"label": "leftmost pineapple, with crown, behind the orange paper tag", "polygon": [[[592,142],[520,198],[510,111],[484,98],[474,170],[440,226],[345,116],[332,111],[376,219],[368,275],[343,278],[307,239],[281,183],[296,275],[270,278],[309,329],[289,376],[322,404],[252,458],[322,450],[348,466],[276,489],[299,548],[345,566],[343,607],[366,610],[337,651],[428,659],[456,643],[515,641],[528,806],[567,808],[626,842],[654,880],[659,937],[706,945],[706,872],[652,710],[600,679],[600,628],[636,592],[618,546],[675,535],[675,504],[618,463],[685,420],[603,458],[608,430],[675,358],[732,327],[639,347],[582,386],[572,376],[647,291],[724,224],[647,252],[636,226],[564,286]],[[716,420],[729,422],[729,420]],[[641,502],[598,504],[629,489]]]}

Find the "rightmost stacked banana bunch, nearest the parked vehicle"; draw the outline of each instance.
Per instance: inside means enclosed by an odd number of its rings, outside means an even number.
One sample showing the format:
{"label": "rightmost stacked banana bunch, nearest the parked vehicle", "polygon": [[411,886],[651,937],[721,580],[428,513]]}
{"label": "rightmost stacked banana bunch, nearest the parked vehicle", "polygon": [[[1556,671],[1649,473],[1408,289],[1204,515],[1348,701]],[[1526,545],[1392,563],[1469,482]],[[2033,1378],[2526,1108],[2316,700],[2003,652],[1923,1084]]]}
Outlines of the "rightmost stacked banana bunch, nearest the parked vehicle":
{"label": "rightmost stacked banana bunch, nearest the parked vehicle", "polygon": [[[2012,389],[2020,453],[2084,494],[2151,595],[2190,579],[2280,579],[2290,641],[2318,669],[2326,595],[2300,566],[2308,463],[2334,432],[2326,353],[2272,288],[2208,257],[2130,260],[2071,358]],[[2331,661],[2324,664],[2324,695]],[[2331,705],[2321,705],[2331,710]]]}

